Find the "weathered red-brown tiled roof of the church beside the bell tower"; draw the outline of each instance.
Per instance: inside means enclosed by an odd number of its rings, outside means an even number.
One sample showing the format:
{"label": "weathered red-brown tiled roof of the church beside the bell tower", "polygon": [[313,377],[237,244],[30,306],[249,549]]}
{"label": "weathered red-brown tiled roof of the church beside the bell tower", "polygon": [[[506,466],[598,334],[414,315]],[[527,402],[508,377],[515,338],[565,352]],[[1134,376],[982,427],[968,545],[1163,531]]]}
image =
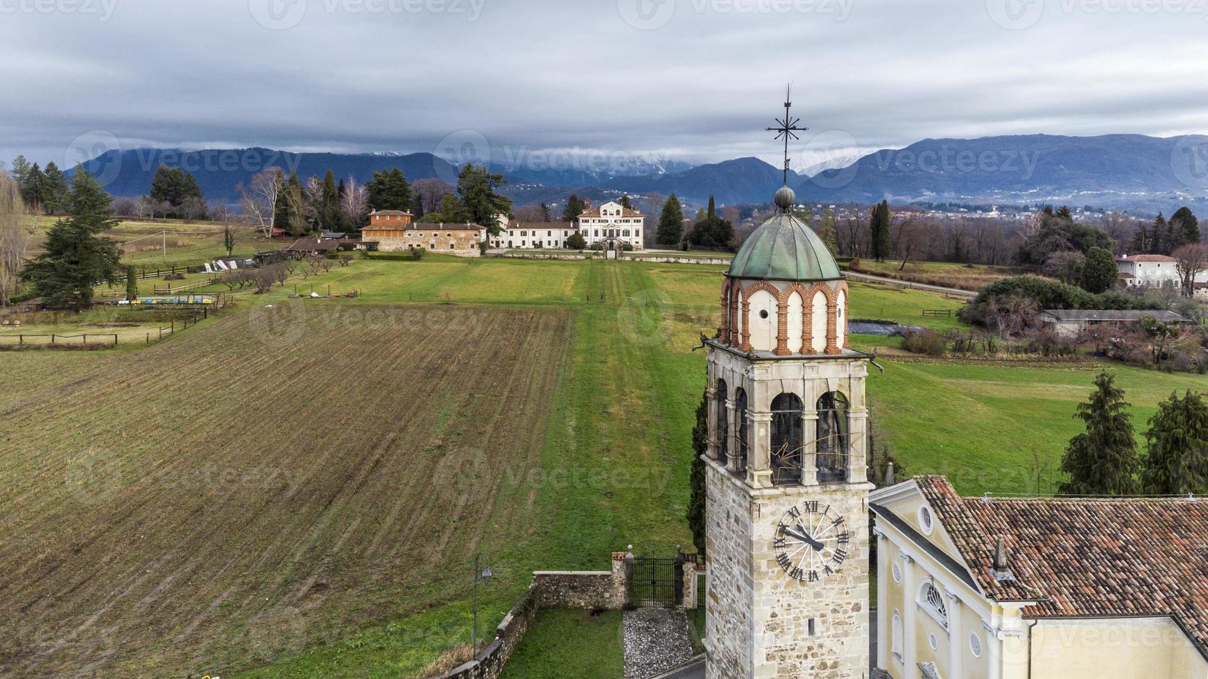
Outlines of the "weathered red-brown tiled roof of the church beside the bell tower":
{"label": "weathered red-brown tiled roof of the church beside the bell tower", "polygon": [[[1169,615],[1208,655],[1208,499],[962,498],[914,481],[981,587],[1024,616]],[[1006,544],[1014,581],[992,572]]]}

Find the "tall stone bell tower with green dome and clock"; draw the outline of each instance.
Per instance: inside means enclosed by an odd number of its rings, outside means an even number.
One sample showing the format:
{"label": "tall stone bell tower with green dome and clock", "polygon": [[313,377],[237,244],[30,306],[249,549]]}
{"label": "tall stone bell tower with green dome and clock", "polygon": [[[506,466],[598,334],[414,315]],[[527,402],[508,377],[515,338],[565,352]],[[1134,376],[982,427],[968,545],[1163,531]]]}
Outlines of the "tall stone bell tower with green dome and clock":
{"label": "tall stone bell tower with green dome and clock", "polygon": [[780,188],[734,257],[705,340],[710,679],[869,673],[870,356],[847,346],[847,281],[795,199]]}

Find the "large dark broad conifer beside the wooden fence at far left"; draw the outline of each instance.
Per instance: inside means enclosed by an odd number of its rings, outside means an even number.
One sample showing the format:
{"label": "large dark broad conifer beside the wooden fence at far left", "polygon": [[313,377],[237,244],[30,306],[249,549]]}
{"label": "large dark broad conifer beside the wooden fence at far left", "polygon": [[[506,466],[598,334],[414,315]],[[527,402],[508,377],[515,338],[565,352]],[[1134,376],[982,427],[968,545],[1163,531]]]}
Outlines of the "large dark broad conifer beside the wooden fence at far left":
{"label": "large dark broad conifer beside the wooden fence at far left", "polygon": [[99,235],[117,226],[110,200],[97,180],[76,165],[68,216],[47,230],[42,253],[21,274],[52,309],[85,310],[92,306],[93,286],[114,280],[117,244]]}

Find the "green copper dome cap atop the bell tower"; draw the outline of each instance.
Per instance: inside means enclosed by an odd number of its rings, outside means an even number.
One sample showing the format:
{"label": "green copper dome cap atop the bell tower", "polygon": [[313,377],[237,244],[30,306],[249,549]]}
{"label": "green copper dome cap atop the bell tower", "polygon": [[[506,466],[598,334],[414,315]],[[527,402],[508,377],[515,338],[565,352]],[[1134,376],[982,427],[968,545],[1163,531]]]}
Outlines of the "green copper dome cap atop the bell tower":
{"label": "green copper dome cap atop the bell tower", "polygon": [[843,277],[818,234],[788,212],[772,216],[748,236],[726,275],[777,281],[830,281]]}

